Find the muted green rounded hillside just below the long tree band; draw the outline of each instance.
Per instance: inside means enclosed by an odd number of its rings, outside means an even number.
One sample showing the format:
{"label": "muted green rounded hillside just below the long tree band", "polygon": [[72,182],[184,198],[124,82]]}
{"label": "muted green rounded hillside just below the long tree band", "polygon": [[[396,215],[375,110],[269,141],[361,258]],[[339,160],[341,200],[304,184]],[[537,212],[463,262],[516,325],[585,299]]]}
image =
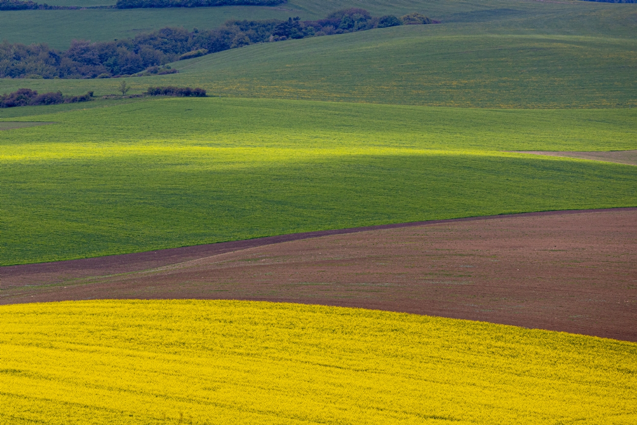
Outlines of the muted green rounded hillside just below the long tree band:
{"label": "muted green rounded hillside just below the long tree band", "polygon": [[[132,92],[179,85],[203,87],[211,96],[480,108],[637,107],[634,38],[404,25],[264,43],[173,66],[179,74],[129,78]],[[0,92],[28,86],[103,95],[116,93],[119,83],[5,79]]]}

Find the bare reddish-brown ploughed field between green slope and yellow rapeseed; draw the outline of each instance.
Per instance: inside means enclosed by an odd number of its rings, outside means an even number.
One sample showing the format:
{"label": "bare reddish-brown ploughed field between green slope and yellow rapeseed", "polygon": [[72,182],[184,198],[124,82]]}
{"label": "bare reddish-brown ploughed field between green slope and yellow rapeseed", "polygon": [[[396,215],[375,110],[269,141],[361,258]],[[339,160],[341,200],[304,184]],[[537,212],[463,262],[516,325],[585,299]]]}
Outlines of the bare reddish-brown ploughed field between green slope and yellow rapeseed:
{"label": "bare reddish-brown ploughed field between green slope and yellow rapeseed", "polygon": [[637,342],[637,208],[353,231],[3,267],[0,303],[258,299]]}

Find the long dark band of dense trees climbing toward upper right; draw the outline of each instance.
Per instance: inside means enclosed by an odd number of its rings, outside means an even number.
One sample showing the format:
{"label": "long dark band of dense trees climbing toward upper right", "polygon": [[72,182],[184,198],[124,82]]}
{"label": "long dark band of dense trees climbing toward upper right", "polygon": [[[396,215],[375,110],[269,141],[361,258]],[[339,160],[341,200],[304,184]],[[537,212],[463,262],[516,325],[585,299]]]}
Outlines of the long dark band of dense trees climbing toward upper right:
{"label": "long dark band of dense trees climbing toward upper right", "polygon": [[0,43],[0,78],[110,78],[175,73],[169,62],[254,43],[305,38],[403,24],[436,23],[420,13],[372,17],[347,9],[316,21],[231,20],[207,31],[162,28],[125,40],[74,40],[65,52],[46,44]]}

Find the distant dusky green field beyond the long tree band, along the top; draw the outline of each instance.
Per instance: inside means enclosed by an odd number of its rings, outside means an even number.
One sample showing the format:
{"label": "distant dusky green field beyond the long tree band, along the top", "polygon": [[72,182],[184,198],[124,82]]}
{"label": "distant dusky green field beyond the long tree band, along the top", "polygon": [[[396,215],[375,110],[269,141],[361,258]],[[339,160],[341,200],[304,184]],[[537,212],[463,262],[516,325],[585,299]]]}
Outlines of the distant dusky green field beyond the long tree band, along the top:
{"label": "distant dusky green field beyond the long tree band, along the top", "polygon": [[[51,4],[96,6],[99,0],[52,0]],[[569,34],[635,38],[634,4],[599,4],[585,1],[536,2],[528,0],[290,0],[273,8],[226,6],[134,10],[27,10],[0,13],[0,40],[12,43],[47,42],[66,49],[71,40],[113,40],[164,26],[210,29],[231,18],[266,19],[299,16],[326,17],[331,11],[359,7],[375,16],[419,11],[462,31],[468,24],[494,34]],[[73,25],[69,25],[69,23]]]}

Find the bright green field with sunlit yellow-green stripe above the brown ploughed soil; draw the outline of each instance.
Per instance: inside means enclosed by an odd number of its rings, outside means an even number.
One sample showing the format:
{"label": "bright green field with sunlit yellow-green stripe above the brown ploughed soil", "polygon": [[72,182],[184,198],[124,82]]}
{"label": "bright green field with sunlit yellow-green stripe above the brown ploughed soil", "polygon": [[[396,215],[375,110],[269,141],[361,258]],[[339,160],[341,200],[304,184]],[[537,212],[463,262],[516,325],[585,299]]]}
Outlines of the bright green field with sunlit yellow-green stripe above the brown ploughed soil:
{"label": "bright green field with sunlit yellow-green stripe above the brown ploughed soil", "polygon": [[[16,108],[18,109],[18,108]],[[496,213],[636,206],[637,110],[153,99],[0,131],[0,264]]]}

